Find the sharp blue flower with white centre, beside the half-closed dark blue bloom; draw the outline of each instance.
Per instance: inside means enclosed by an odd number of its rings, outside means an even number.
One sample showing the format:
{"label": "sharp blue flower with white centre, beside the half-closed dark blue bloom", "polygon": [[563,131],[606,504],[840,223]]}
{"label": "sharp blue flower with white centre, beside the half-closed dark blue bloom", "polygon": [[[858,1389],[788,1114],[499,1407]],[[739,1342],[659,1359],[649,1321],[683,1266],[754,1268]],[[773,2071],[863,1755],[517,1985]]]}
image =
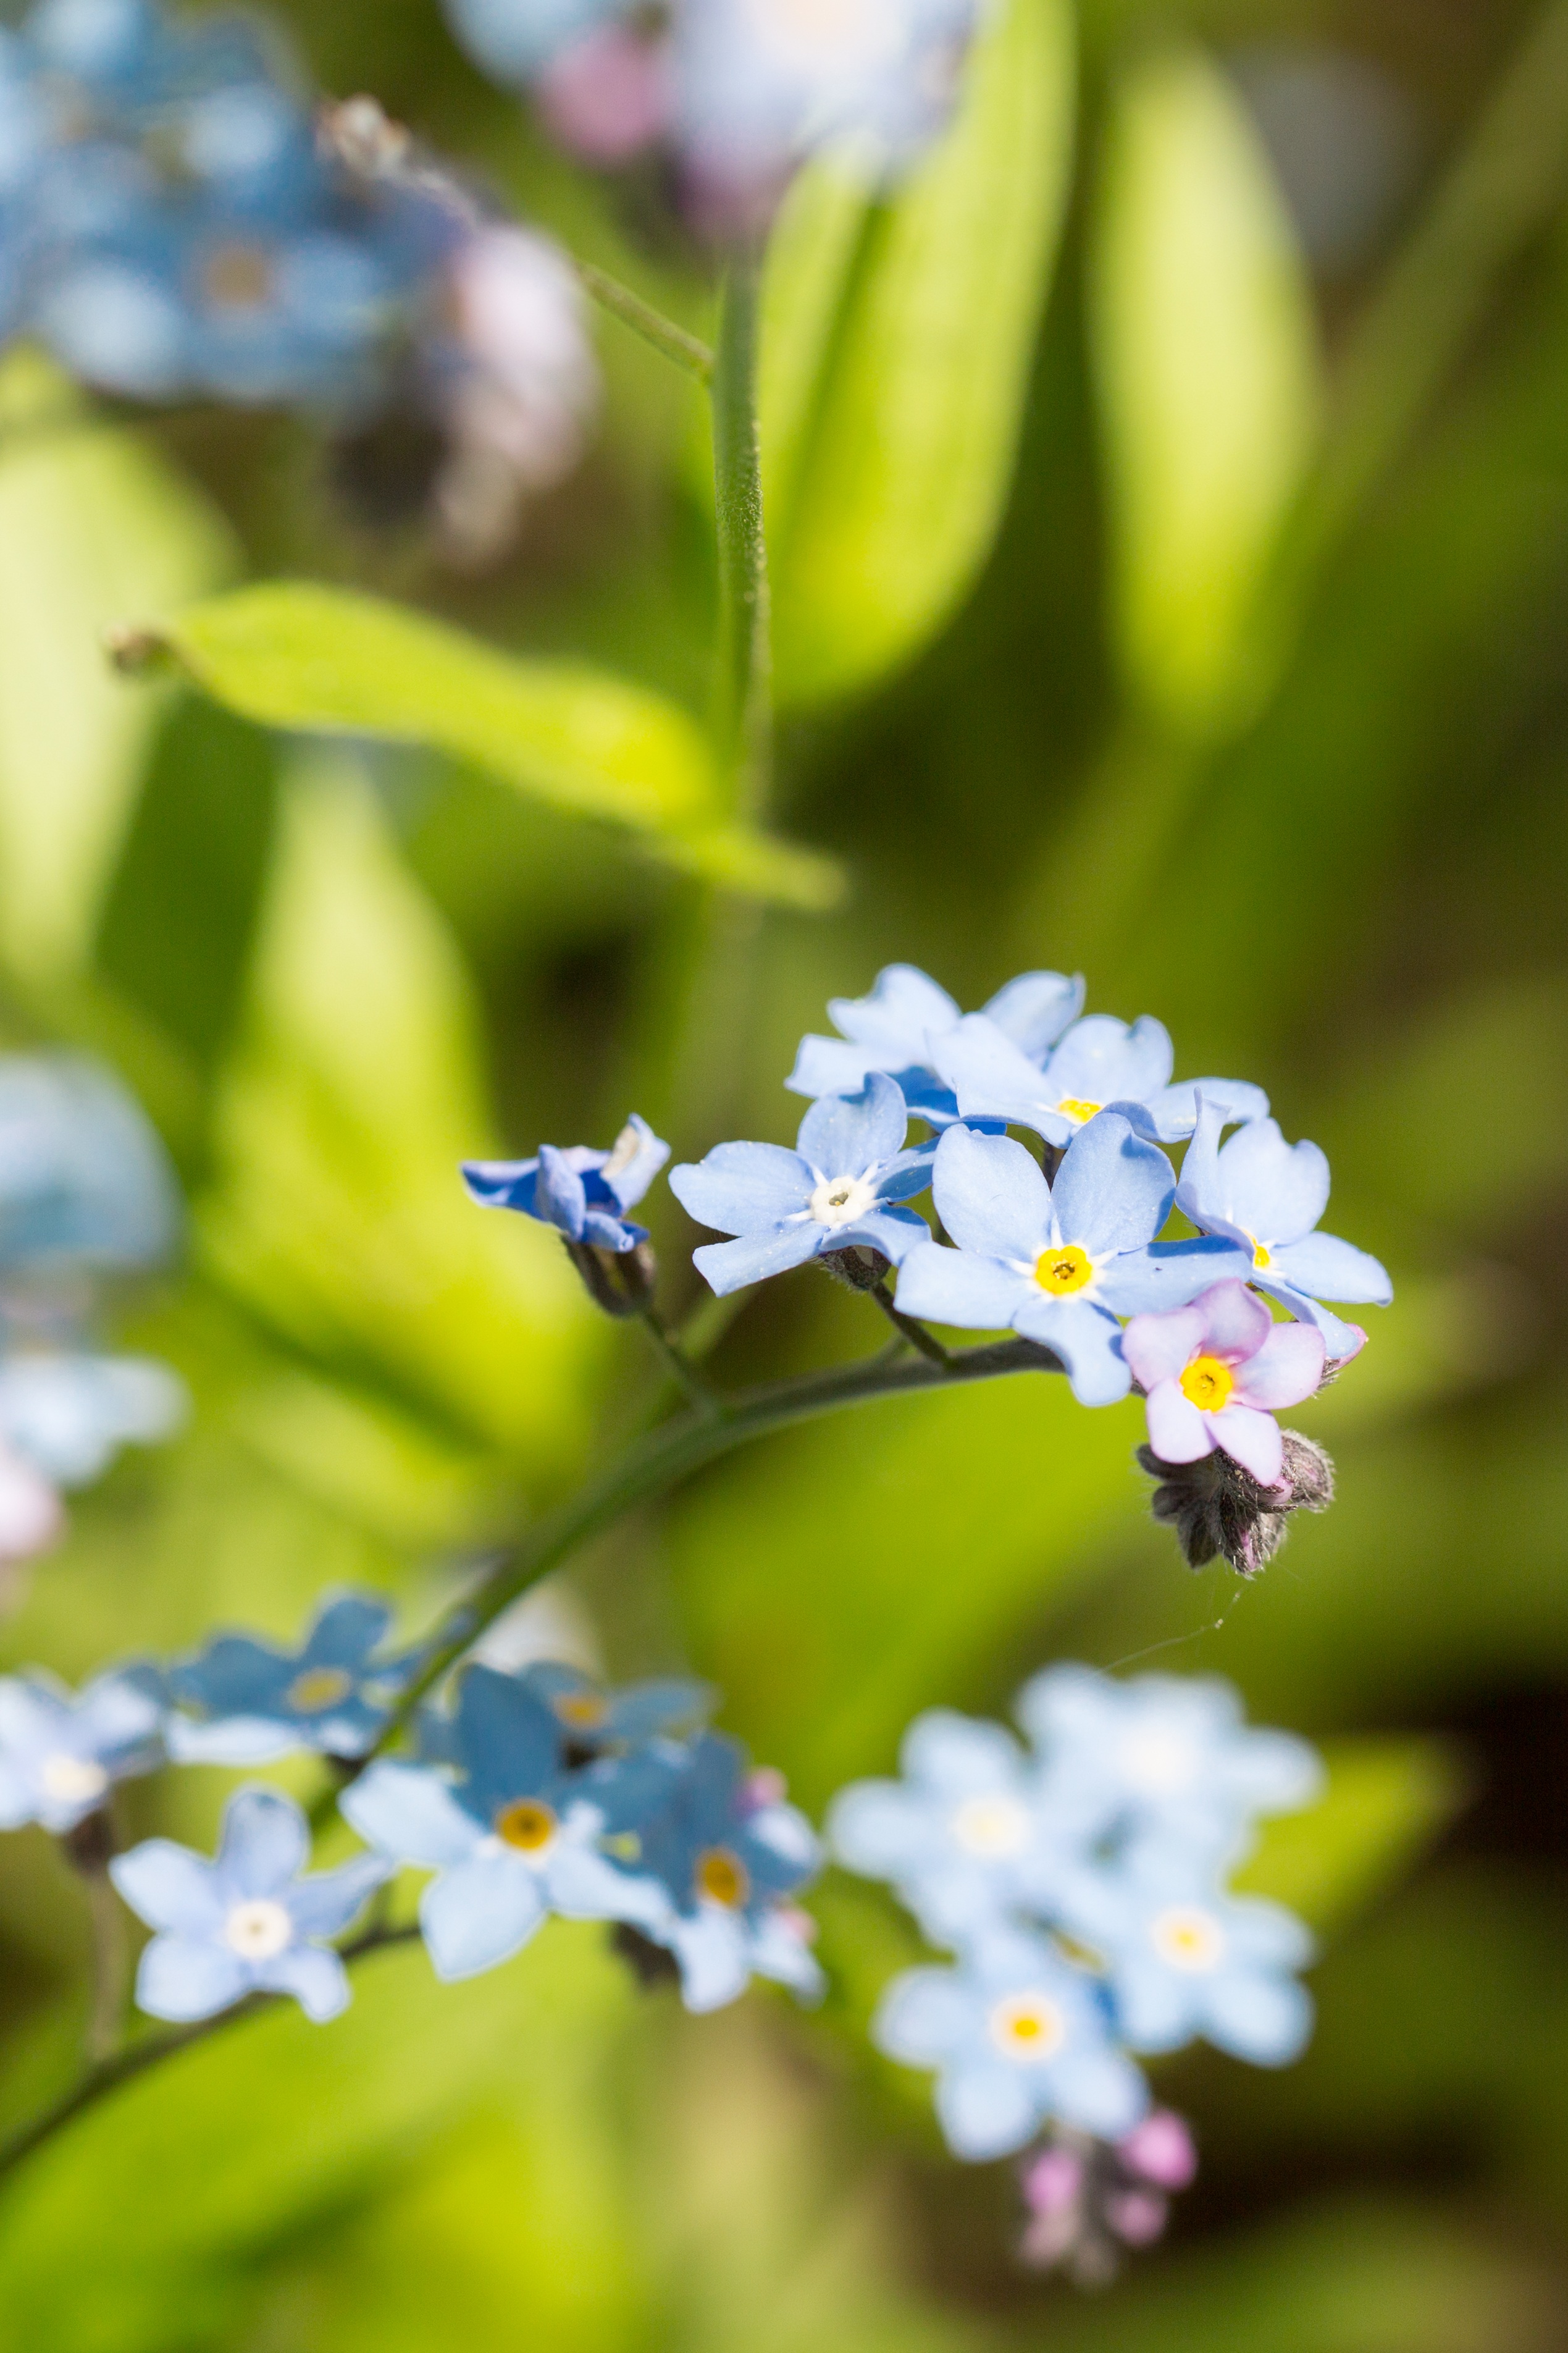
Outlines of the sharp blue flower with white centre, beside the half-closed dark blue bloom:
{"label": "sharp blue flower with white centre, beside the half-closed dark blue bloom", "polygon": [[856,1242],[898,1266],[931,1240],[924,1217],[898,1207],[931,1184],[931,1146],[905,1151],[907,1125],[898,1085],[872,1071],[856,1094],[811,1106],[792,1153],[715,1144],[705,1160],[670,1169],[670,1191],[701,1226],[738,1235],[693,1249],[691,1264],[719,1297]]}

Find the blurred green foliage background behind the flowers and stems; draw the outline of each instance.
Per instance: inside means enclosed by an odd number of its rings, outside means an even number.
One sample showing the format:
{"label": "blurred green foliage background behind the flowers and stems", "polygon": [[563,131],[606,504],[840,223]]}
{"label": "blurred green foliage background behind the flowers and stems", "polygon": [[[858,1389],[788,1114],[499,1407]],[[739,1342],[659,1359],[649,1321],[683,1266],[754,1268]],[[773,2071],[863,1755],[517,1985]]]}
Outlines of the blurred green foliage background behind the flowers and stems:
{"label": "blurred green foliage background behind the flowers and stems", "polygon": [[[656,176],[555,158],[435,0],[287,14],[327,89],[710,329]],[[797,188],[764,369],[776,821],[844,861],[827,913],[719,899],[527,776],[266,732],[101,659],[110,624],[313,576],[701,718],[703,416],[616,322],[590,459],[482,576],[348,520],[301,424],[110,414],[12,355],[7,1042],[92,1045],[160,1122],[188,1264],[120,1329],[195,1417],[80,1499],[7,1664],[284,1635],[334,1581],[425,1621],[654,1377],[545,1235],[463,1202],[458,1155],[609,1141],[632,1106],[679,1158],[788,1141],[795,1038],[886,960],[966,1005],[1081,962],[1182,1073],[1262,1080],[1399,1297],[1300,1414],[1340,1501],[1255,1586],[1152,1527],[1133,1402],[1009,1381],[776,1438],[515,1628],[696,1666],[811,1809],[914,1708],[999,1711],[1051,1657],[1218,1671],[1326,1741],[1331,1802],[1255,1866],[1324,1929],[1316,2042],[1284,2075],[1161,2064],[1204,2172],[1105,2297],[1013,2268],[1009,2169],[945,2160],[872,2059],[910,1932],[830,1878],[811,2019],[752,1993],[689,2021],[552,1927],[461,1988],[378,1955],[334,2028],[169,2064],[7,2188],[0,2344],[1563,2341],[1566,212],[1568,12],[1481,0],[1013,0],[893,207]],[[693,1233],[654,1207],[679,1311]],[[879,1339],[804,1271],[715,1362]],[[136,1828],[205,1838],[221,1788],[139,1788]],[[85,1911],[35,1831],[0,1849],[0,1944],[14,2120],[82,2017]]]}

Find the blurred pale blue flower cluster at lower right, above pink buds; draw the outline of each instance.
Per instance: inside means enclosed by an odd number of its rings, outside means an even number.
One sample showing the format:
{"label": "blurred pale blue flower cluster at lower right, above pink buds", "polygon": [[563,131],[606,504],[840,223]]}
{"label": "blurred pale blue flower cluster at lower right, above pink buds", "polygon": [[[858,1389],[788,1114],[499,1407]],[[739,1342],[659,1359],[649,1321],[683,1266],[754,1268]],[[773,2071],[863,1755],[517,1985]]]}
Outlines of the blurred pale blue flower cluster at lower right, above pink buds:
{"label": "blurred pale blue flower cluster at lower right, above pink buds", "polygon": [[907,1969],[872,2035],[936,2071],[959,2158],[1041,2127],[1124,2144],[1150,2111],[1133,2054],[1204,2038],[1284,2066],[1307,2040],[1288,1911],[1227,1878],[1260,1817],[1307,1805],[1312,1748],[1241,1722],[1222,1682],[1114,1682],[1053,1666],[1018,1697],[1030,1746],[938,1708],[905,1734],[903,1779],[835,1800],[827,1840],[889,1880],[954,1967]]}

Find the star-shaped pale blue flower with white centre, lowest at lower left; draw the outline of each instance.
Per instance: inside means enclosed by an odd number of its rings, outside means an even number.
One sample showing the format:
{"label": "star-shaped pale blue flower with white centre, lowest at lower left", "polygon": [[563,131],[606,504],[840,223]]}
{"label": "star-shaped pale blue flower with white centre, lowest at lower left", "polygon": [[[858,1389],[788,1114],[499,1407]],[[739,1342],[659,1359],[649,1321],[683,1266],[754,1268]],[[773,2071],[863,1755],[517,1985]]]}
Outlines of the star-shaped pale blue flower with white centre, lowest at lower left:
{"label": "star-shaped pale blue flower with white centre, lowest at lower left", "polygon": [[242,1788],[223,1812],[214,1861],[148,1838],[108,1873],[158,1929],[141,1953],[136,2002],[155,2019],[209,2019],[247,1993],[292,1993],[308,2019],[348,2007],[348,1972],[322,1939],[339,1937],[388,1878],[376,1854],[301,1878],[310,1826],[273,1788]]}

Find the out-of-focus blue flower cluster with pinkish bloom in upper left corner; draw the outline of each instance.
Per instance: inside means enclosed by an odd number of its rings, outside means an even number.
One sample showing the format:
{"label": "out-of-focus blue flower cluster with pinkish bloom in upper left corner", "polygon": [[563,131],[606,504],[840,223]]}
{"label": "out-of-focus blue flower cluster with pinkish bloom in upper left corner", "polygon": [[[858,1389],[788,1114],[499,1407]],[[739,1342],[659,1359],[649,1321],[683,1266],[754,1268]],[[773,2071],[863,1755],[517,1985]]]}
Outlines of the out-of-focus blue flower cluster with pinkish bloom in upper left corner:
{"label": "out-of-focus blue flower cluster with pinkish bloom in upper left corner", "polygon": [[[0,336],[132,400],[320,412],[364,501],[482,551],[578,456],[567,259],[357,99],[315,113],[252,16],[40,0],[0,35]],[[393,464],[393,449],[397,464]]]}

